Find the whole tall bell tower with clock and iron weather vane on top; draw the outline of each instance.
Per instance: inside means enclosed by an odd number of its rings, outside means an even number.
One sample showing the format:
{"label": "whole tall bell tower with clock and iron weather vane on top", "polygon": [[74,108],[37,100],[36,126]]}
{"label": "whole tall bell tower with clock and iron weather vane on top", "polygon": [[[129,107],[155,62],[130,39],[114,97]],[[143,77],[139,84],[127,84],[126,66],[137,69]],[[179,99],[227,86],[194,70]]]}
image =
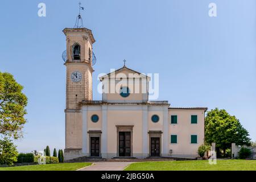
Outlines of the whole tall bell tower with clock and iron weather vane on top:
{"label": "whole tall bell tower with clock and iron weather vane on top", "polygon": [[63,53],[66,66],[66,109],[65,109],[65,160],[74,156],[88,155],[82,153],[84,135],[81,101],[91,101],[93,64],[96,57],[92,52],[95,42],[92,31],[84,28],[79,3],[79,15],[74,28],[63,30],[66,36],[67,49]]}

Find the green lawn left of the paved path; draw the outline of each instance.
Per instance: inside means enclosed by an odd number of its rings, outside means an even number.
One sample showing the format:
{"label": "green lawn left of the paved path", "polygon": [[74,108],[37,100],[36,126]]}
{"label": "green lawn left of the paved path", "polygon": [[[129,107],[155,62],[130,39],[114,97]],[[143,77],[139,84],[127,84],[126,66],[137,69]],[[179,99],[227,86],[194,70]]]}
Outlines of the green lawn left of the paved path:
{"label": "green lawn left of the paved path", "polygon": [[0,167],[0,171],[75,171],[92,163],[59,163],[32,166]]}

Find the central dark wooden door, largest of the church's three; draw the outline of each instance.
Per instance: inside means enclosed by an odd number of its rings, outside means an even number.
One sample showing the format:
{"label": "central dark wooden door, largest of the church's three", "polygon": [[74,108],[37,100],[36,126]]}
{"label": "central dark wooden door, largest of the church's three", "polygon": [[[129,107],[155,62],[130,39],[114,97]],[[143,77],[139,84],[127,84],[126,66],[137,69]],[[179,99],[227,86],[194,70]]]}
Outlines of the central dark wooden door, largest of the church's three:
{"label": "central dark wooden door, largest of the church's three", "polygon": [[119,156],[131,156],[130,132],[119,132]]}

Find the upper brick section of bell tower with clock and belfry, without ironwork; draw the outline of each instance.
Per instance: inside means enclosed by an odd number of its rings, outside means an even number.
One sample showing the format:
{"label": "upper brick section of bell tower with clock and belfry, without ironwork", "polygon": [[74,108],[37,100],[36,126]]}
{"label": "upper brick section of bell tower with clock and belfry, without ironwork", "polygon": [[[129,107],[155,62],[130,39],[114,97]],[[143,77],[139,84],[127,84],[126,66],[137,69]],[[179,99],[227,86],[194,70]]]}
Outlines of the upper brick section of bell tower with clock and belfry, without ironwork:
{"label": "upper brick section of bell tower with clock and belfry, without ironwork", "polygon": [[66,109],[80,109],[79,102],[92,100],[92,44],[88,28],[65,28],[67,41]]}

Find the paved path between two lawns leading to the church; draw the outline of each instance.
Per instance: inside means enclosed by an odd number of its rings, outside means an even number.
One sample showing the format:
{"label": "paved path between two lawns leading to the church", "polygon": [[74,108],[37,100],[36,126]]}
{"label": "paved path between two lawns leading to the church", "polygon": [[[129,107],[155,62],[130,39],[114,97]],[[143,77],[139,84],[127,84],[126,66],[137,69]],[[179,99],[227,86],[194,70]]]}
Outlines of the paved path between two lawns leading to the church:
{"label": "paved path between two lawns leading to the church", "polygon": [[79,171],[122,171],[133,162],[102,162],[93,163],[92,166],[79,169]]}

